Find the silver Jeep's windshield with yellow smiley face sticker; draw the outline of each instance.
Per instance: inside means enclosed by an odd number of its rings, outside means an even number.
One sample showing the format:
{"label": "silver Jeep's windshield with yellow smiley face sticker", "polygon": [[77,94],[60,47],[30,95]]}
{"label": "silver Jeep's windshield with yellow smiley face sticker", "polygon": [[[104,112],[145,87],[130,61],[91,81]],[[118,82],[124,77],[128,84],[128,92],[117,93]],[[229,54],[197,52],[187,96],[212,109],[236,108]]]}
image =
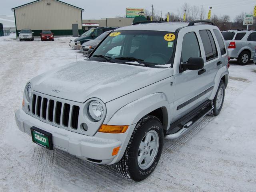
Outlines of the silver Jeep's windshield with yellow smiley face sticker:
{"label": "silver Jeep's windshield with yellow smiley face sticker", "polygon": [[114,31],[98,46],[90,59],[102,59],[104,56],[111,59],[111,62],[137,62],[145,66],[158,67],[170,64],[174,43],[174,32]]}

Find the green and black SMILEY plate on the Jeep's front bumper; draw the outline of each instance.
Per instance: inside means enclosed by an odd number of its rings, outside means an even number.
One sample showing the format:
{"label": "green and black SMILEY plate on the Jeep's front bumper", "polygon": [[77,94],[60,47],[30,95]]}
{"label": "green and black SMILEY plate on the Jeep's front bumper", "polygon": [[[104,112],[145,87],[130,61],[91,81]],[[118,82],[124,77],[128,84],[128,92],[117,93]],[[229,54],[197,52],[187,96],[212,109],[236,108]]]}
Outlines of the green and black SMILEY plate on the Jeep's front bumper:
{"label": "green and black SMILEY plate on the Jeep's front bumper", "polygon": [[46,149],[53,150],[52,134],[42,129],[31,127],[32,141]]}

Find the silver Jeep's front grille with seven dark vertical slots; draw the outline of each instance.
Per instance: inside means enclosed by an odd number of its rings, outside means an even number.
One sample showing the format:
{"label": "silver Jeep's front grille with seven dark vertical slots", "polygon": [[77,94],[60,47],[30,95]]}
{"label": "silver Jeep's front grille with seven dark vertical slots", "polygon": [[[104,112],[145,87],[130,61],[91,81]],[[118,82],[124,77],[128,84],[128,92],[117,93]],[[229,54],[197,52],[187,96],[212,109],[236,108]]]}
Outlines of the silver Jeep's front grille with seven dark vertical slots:
{"label": "silver Jeep's front grille with seven dark vertical slots", "polygon": [[79,106],[62,103],[33,94],[31,113],[35,118],[56,126],[77,129]]}

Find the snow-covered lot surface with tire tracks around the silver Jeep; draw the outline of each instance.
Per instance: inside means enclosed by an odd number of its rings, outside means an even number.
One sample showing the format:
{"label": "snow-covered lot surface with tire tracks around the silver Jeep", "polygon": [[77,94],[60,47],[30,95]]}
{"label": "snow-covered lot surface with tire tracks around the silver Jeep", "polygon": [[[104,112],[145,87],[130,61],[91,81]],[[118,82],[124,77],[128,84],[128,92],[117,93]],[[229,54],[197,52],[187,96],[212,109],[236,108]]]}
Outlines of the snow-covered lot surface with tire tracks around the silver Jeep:
{"label": "snow-covered lot surface with tire tracks around the silver Jeep", "polygon": [[142,182],[120,178],[114,166],[49,151],[20,132],[14,112],[26,82],[42,72],[84,59],[54,42],[0,38],[0,191],[256,191],[256,65],[231,62],[222,112],[206,116],[177,140],[164,140],[156,170]]}

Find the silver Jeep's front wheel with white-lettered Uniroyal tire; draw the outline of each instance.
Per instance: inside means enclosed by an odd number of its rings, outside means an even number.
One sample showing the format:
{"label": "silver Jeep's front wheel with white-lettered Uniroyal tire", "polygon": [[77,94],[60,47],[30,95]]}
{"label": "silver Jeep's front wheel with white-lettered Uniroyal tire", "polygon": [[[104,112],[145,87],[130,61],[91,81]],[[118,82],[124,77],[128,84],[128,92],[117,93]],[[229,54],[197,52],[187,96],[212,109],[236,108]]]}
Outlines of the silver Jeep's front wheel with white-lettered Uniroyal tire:
{"label": "silver Jeep's front wheel with white-lettered Uniroyal tire", "polygon": [[[134,181],[147,178],[158,164],[162,154],[163,140],[164,132],[160,120],[155,116],[144,116],[134,128],[122,159],[116,163],[119,174]],[[141,159],[140,163],[138,158]]]}

